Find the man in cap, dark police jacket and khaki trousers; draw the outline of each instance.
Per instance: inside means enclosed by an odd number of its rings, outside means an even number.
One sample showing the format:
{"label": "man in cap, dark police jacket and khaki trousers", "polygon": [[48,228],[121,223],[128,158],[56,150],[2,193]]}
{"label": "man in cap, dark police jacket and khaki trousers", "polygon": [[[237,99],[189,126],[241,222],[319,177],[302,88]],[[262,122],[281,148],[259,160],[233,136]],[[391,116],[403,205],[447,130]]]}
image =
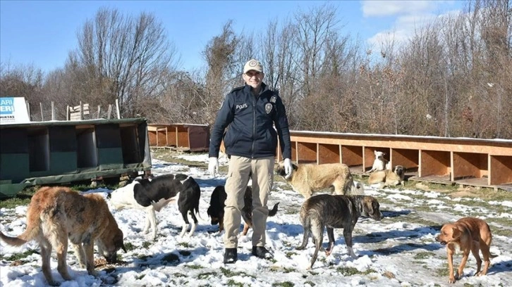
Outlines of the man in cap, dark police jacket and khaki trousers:
{"label": "man in cap, dark police jacket and khaki trousers", "polygon": [[[209,173],[219,170],[219,148],[224,130],[226,154],[230,155],[226,177],[226,207],[224,208],[224,263],[236,262],[238,232],[243,195],[252,179],[252,255],[272,258],[265,248],[267,228],[267,199],[274,181],[274,162],[277,139],[284,158],[286,177],[293,172],[288,119],[278,94],[263,82],[263,68],[258,60],[249,60],[243,67],[245,86],[226,95],[219,110],[209,145]],[[275,129],[274,129],[275,125]]]}

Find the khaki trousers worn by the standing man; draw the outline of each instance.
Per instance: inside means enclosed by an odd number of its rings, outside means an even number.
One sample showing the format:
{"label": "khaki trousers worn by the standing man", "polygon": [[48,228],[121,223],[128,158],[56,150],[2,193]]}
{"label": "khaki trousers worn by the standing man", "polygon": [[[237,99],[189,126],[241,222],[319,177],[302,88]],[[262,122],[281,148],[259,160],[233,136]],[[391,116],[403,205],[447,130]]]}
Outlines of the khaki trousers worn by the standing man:
{"label": "khaki trousers worn by the standing man", "polygon": [[265,245],[265,230],[269,209],[267,200],[274,181],[275,158],[243,158],[231,155],[226,178],[226,207],[224,208],[224,247],[238,247],[243,195],[249,177],[252,179],[252,246]]}

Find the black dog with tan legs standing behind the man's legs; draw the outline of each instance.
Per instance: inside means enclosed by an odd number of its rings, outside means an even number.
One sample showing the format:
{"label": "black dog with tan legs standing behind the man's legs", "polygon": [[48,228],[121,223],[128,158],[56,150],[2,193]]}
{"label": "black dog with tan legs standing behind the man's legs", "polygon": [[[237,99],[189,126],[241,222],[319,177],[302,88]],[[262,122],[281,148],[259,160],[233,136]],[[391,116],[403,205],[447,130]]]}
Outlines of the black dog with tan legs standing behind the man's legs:
{"label": "black dog with tan legs standing behind the man's legs", "polygon": [[[224,202],[226,201],[226,190],[224,186],[217,186],[212,192],[212,198],[209,201],[209,208],[207,210],[208,216],[212,219],[212,225],[219,224],[219,232],[224,230]],[[244,206],[242,212],[243,218],[243,235],[246,235],[249,228],[252,228],[252,188],[247,186],[243,196]],[[269,216],[274,216],[277,213],[277,206],[279,203],[274,204],[274,208],[269,210]]]}

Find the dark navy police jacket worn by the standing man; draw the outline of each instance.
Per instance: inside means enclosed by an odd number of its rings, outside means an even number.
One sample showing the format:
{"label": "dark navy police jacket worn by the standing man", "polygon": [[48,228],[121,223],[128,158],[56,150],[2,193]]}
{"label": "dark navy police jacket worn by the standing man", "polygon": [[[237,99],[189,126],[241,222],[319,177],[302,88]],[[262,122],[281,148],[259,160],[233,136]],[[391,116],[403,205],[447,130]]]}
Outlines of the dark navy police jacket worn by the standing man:
{"label": "dark navy police jacket worn by the standing man", "polygon": [[283,101],[264,83],[258,96],[253,96],[250,90],[246,84],[233,89],[224,98],[212,128],[209,156],[219,157],[224,129],[228,127],[224,136],[226,154],[245,158],[275,156],[279,134],[281,154],[291,159],[290,131]]}

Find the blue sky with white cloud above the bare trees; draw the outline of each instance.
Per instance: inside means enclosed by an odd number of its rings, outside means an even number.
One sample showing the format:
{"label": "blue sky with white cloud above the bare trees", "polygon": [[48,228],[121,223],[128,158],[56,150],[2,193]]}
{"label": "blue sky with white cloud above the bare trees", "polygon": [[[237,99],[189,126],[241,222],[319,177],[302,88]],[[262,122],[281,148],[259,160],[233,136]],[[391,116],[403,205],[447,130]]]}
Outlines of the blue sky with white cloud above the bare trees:
{"label": "blue sky with white cloud above the bare trees", "polygon": [[[461,9],[463,1],[330,1],[343,32],[377,45],[386,37],[406,39],[420,22]],[[228,20],[236,32],[264,30],[269,20],[284,22],[296,11],[324,1],[0,1],[0,61],[34,65],[48,72],[63,67],[76,49],[78,30],[99,8],[137,16],[154,13],[181,56],[181,68],[203,64],[201,52]],[[378,49],[378,48],[377,48]]]}

